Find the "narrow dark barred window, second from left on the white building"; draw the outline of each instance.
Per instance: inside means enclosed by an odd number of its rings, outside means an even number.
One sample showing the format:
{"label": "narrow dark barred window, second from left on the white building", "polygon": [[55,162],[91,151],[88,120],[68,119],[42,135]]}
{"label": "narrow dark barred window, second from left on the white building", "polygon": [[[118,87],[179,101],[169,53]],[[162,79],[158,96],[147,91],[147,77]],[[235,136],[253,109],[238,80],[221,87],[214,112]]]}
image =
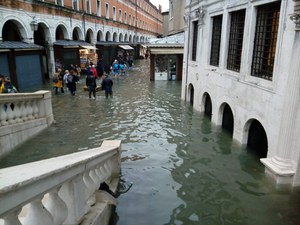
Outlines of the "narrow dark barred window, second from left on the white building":
{"label": "narrow dark barred window, second from left on the white building", "polygon": [[219,66],[222,20],[222,15],[213,17],[213,30],[210,50],[210,65],[212,66]]}

